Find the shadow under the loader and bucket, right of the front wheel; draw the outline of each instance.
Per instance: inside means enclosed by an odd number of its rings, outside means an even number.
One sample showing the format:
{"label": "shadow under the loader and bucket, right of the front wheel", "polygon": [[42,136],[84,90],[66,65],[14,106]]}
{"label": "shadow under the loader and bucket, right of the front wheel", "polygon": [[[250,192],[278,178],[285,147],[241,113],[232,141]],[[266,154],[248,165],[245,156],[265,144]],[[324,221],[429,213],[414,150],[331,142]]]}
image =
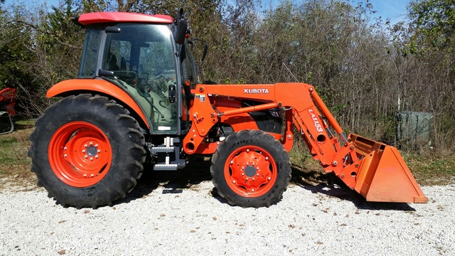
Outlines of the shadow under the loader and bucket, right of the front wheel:
{"label": "shadow under the loader and bucket, right of the front wheel", "polygon": [[321,193],[331,198],[350,201],[361,210],[415,211],[407,203],[367,202],[363,196],[346,186],[333,173],[325,174],[321,171],[302,170],[299,166],[292,166],[291,183],[311,191],[311,193]]}

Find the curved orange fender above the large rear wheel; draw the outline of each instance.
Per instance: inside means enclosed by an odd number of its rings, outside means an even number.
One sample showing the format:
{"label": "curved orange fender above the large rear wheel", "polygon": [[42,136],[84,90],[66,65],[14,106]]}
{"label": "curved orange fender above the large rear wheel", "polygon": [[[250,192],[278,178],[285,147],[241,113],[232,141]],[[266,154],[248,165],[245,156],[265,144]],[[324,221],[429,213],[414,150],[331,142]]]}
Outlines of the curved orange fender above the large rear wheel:
{"label": "curved orange fender above the large rear wheel", "polygon": [[139,107],[137,102],[122,88],[113,85],[106,80],[98,79],[72,79],[58,82],[50,87],[46,97],[60,97],[74,94],[74,92],[100,92],[109,95],[119,102],[124,103],[124,107],[134,111],[150,129],[149,119],[144,114],[144,111]]}

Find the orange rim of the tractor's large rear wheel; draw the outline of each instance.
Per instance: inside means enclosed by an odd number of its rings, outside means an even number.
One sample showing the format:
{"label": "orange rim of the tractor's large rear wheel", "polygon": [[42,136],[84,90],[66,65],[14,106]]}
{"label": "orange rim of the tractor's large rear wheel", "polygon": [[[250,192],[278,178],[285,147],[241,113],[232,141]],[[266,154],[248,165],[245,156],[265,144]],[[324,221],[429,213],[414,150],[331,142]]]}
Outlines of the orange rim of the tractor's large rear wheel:
{"label": "orange rim of the tractor's large rear wheel", "polygon": [[104,178],[112,161],[109,139],[88,122],[70,122],[50,139],[50,168],[64,183],[83,188]]}

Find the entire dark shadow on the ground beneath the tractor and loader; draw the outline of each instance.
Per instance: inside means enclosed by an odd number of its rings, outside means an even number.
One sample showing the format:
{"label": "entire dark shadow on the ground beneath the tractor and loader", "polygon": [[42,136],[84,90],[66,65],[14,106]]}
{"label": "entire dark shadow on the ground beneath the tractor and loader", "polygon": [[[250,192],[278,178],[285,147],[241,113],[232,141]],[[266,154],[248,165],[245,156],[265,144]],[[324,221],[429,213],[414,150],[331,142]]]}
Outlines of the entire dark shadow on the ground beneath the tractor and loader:
{"label": "entire dark shadow on the ground beneath the tractor and loader", "polygon": [[[144,165],[144,174],[137,181],[137,186],[127,194],[127,196],[114,205],[129,203],[140,198],[145,198],[157,188],[163,188],[162,193],[183,193],[186,189],[198,189],[198,185],[204,181],[211,181],[210,161],[190,162],[184,169],[178,171],[153,171],[151,165]],[[352,202],[356,208],[361,210],[400,210],[415,211],[407,203],[378,203],[367,202],[363,196],[356,191],[351,190],[343,181],[333,173],[324,174],[321,171],[314,171],[299,166],[292,166],[292,178],[290,183],[295,186],[311,191],[311,193],[320,193],[331,198],[339,198],[343,201]],[[209,192],[220,201],[228,204],[225,198],[218,194],[215,187]],[[272,203],[275,205],[282,201]]]}

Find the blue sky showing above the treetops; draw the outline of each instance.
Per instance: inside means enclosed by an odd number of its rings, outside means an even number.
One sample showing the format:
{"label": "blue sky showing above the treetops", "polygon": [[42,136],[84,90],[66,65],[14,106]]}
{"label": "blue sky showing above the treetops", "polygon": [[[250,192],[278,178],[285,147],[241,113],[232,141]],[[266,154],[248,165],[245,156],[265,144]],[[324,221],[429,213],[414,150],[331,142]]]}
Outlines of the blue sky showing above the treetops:
{"label": "blue sky showing above the treetops", "polygon": [[[265,6],[268,0],[263,0],[263,5]],[[270,0],[273,3],[276,3],[278,0]],[[355,2],[365,0],[356,0]],[[16,2],[16,0],[6,0],[6,4],[11,4]],[[50,5],[58,5],[59,0],[23,0],[26,4],[32,3],[44,3],[46,2]],[[296,2],[299,2],[296,0]],[[373,4],[373,9],[378,11],[374,16],[382,17],[382,20],[385,21],[386,18],[390,18],[391,23],[397,23],[398,21],[403,21],[406,18],[406,6],[410,3],[410,0],[370,0],[370,3]]]}

